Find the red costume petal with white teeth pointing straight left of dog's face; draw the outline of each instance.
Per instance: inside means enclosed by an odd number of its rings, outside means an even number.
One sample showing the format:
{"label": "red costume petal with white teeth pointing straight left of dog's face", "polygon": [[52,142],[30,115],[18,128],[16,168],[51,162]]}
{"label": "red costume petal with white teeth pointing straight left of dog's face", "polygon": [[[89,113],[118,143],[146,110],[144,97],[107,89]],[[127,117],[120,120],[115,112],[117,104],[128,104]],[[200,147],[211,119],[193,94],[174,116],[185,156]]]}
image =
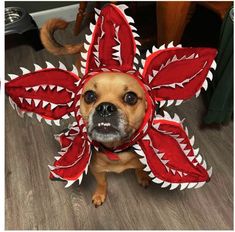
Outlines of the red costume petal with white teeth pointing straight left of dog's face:
{"label": "red costume petal with white teeth pointing straight left of dog's face", "polygon": [[34,72],[21,68],[21,76],[8,74],[12,80],[6,83],[6,93],[20,116],[36,113],[39,121],[44,118],[48,124],[51,120],[59,124],[59,119],[69,118],[75,110],[80,79],[75,67],[70,72],[47,64],[45,69],[35,65]]}

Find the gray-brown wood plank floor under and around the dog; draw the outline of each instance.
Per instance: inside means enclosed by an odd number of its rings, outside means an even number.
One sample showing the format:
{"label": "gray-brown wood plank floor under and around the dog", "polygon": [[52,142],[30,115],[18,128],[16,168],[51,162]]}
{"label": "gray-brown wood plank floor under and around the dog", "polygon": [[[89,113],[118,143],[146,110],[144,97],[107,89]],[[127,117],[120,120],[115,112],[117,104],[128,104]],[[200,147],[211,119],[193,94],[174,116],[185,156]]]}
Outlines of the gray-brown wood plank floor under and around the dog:
{"label": "gray-brown wood plank floor under and around the dog", "polygon": [[[57,33],[60,41],[79,38]],[[20,46],[6,51],[6,73],[20,74],[18,67],[30,70],[33,63],[45,67],[61,60],[69,68],[74,57],[55,57],[45,50],[35,52]],[[179,107],[169,107],[186,118],[190,134],[207,163],[213,166],[211,181],[201,189],[161,189],[152,184],[140,187],[133,171],[108,176],[108,197],[95,208],[95,190],[88,173],[81,186],[68,189],[63,182],[50,181],[47,165],[54,162],[59,146],[53,134],[66,128],[50,127],[35,118],[20,118],[8,100],[6,114],[6,229],[233,229],[233,122],[220,129],[200,129],[204,112],[201,98]]]}

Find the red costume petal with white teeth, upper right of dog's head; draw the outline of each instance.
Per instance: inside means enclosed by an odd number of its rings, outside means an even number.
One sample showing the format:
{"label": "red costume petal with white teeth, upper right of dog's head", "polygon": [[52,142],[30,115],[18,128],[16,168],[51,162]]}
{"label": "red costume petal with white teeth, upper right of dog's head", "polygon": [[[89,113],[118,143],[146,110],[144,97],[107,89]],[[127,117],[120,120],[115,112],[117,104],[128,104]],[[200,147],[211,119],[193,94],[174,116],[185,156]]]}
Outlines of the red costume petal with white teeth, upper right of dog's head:
{"label": "red costume petal with white teeth, upper right of dog's head", "polygon": [[160,47],[147,53],[143,77],[152,89],[156,101],[176,105],[199,95],[207,89],[206,78],[212,79],[210,68],[215,68],[217,54],[213,48]]}

